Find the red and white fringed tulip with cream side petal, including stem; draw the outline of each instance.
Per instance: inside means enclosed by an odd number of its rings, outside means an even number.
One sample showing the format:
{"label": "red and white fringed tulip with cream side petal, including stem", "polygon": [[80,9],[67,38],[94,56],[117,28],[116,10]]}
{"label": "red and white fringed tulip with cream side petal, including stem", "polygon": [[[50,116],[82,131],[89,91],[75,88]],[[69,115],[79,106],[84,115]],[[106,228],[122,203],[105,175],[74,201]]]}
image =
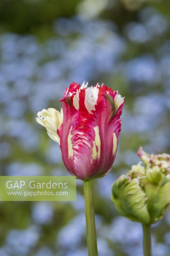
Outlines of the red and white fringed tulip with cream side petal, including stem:
{"label": "red and white fringed tulip with cream side petal, including stem", "polygon": [[115,160],[124,98],[104,84],[87,85],[70,84],[61,111],[43,109],[36,120],[59,143],[68,172],[84,181],[88,252],[97,256],[92,180],[106,175]]}

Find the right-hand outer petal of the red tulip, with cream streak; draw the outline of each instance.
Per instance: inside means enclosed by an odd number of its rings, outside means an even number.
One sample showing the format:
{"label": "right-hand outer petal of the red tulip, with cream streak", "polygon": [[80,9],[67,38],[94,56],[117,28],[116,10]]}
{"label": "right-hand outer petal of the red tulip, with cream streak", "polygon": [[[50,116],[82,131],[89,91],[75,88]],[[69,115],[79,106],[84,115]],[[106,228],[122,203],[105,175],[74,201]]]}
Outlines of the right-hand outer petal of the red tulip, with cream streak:
{"label": "right-hand outer petal of the red tulip, with cream streak", "polygon": [[121,131],[120,115],[124,101],[115,114],[114,97],[117,92],[113,92],[111,89],[107,88],[108,93],[103,94],[106,88],[107,87],[104,85],[99,88],[100,96],[97,105],[95,105],[96,110],[92,111],[95,122],[94,126],[98,127],[98,137],[100,138],[100,159],[97,163],[95,162],[95,166],[93,166],[93,170],[96,170],[95,177],[101,177],[110,170],[115,160]]}

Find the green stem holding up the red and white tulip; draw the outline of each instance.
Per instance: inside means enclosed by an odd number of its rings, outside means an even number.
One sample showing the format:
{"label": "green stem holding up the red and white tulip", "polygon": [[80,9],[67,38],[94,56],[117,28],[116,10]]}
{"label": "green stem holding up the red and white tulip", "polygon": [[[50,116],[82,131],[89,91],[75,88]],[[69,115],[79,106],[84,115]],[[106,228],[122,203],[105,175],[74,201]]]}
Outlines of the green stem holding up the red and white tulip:
{"label": "green stem holding up the red and white tulip", "polygon": [[93,179],[84,181],[87,246],[88,246],[89,256],[98,256],[92,185],[93,185]]}

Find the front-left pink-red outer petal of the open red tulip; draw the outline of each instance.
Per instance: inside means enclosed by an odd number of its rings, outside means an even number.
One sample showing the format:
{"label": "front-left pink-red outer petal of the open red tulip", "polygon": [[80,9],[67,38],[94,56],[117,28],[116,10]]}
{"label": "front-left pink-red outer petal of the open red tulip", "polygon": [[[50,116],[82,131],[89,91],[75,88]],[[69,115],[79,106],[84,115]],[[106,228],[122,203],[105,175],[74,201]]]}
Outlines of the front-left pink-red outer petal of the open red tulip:
{"label": "front-left pink-red outer petal of the open red tulip", "polygon": [[63,124],[58,135],[60,137],[61,152],[63,162],[67,170],[79,179],[86,180],[95,175],[92,170],[93,141],[95,141],[95,123],[93,115],[89,114],[85,108],[85,91],[80,92],[78,111],[73,106],[73,98],[70,97],[71,104],[66,99],[63,101]]}

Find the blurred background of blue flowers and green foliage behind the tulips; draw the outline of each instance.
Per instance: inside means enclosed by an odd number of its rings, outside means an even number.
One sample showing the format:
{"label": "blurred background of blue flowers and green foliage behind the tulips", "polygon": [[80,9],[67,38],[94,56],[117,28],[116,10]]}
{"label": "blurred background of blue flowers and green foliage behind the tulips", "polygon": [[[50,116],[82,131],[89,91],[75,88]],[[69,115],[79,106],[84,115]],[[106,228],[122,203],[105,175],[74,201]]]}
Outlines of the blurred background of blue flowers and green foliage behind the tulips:
{"label": "blurred background of blue flowers and green foliage behind the tulips", "polygon": [[[137,148],[170,150],[170,2],[0,2],[1,175],[68,175],[57,143],[35,117],[61,108],[72,81],[125,96],[112,171],[94,182],[100,256],[142,256],[142,228],[110,202]],[[82,181],[76,202],[1,202],[1,256],[87,256]],[[153,256],[170,256],[170,210],[152,227]]]}

